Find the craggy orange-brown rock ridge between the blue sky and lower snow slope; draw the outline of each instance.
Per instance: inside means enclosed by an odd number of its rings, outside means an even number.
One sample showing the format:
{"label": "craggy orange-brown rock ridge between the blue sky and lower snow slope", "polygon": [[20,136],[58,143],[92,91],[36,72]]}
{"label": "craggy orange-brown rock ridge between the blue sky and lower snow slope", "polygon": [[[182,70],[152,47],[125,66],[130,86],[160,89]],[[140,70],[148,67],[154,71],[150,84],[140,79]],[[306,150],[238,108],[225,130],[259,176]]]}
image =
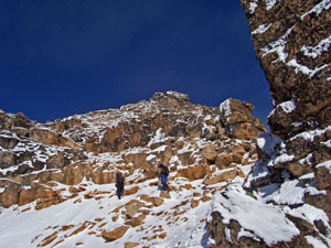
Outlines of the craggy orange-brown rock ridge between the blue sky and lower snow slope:
{"label": "craggy orange-brown rock ridge between the blue sky and lower snow slope", "polygon": [[[154,94],[150,101],[45,125],[1,111],[0,204],[9,207],[38,200],[41,209],[68,198],[49,183],[77,185],[90,180],[109,184],[117,171],[127,176],[136,173],[142,182],[158,175],[160,163],[177,176],[205,179],[209,185],[233,180],[239,171],[236,166],[256,161],[252,141],[266,131],[250,115],[253,108],[235,99],[221,108],[204,107],[191,104],[185,94],[168,91]],[[229,168],[234,168],[231,179],[226,173],[217,175]]]}

